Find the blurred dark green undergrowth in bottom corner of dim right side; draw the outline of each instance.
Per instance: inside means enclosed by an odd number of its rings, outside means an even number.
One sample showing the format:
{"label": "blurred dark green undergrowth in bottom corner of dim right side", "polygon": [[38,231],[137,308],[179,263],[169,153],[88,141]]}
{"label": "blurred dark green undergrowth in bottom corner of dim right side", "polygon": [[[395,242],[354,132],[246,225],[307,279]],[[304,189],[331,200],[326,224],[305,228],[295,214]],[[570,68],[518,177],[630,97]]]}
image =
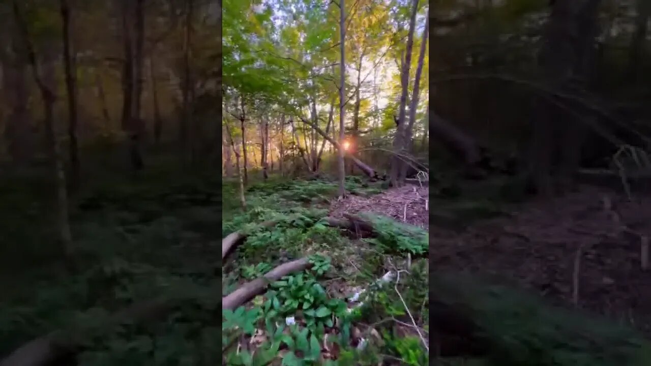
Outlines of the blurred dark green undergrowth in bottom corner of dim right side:
{"label": "blurred dark green undergrowth in bottom corner of dim right side", "polygon": [[651,364],[651,343],[625,326],[552,307],[538,296],[471,275],[435,272],[431,277],[437,302],[471,320],[476,326],[471,336],[486,349],[474,363],[448,359],[449,365]]}

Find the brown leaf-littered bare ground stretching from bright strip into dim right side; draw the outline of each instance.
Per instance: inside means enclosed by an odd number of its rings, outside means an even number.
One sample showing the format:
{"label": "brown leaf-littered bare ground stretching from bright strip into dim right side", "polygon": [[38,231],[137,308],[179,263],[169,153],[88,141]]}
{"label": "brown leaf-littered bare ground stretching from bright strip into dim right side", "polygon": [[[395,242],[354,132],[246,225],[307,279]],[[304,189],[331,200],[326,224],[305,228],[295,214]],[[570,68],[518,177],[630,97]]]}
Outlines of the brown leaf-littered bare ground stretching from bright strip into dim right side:
{"label": "brown leaf-littered bare ground stretching from bright strip into dim right side", "polygon": [[427,187],[405,186],[334,202],[331,215],[376,212],[417,225],[430,232],[430,268],[492,275],[651,336],[651,269],[642,268],[644,241],[648,245],[651,236],[651,195],[628,200],[583,186],[462,232],[436,222],[429,227],[426,199]]}

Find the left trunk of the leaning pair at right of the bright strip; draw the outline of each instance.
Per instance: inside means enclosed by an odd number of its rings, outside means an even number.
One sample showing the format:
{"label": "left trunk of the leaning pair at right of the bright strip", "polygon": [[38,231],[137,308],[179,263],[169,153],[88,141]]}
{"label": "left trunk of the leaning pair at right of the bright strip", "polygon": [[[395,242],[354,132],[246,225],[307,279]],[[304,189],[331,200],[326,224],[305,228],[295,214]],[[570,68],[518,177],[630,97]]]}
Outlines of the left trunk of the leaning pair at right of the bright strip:
{"label": "left trunk of the leaning pair at right of the bright strip", "polygon": [[400,93],[400,107],[398,109],[398,119],[396,123],[396,135],[393,138],[393,159],[391,160],[391,184],[397,187],[400,186],[399,174],[400,167],[403,164],[402,156],[406,154],[407,143],[407,124],[405,123],[406,107],[407,107],[407,93],[409,92],[409,67],[411,66],[411,48],[413,48],[413,33],[415,30],[416,13],[418,12],[418,1],[413,0],[413,8],[411,10],[411,18],[409,18],[409,32],[407,35],[407,48],[405,51],[404,62],[402,63],[402,70],[400,72],[400,86],[402,92]]}

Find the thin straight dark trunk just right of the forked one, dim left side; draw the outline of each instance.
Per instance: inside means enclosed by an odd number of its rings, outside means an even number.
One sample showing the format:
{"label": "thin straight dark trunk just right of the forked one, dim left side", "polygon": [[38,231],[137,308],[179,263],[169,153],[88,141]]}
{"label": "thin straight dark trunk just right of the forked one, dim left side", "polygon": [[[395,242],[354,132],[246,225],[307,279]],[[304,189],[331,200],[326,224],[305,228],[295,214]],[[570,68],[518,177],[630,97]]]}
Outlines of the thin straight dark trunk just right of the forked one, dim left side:
{"label": "thin straight dark trunk just right of the forked one, dim left side", "polygon": [[63,64],[68,94],[68,152],[70,154],[70,180],[72,187],[79,184],[79,148],[77,147],[77,81],[76,56],[70,49],[70,5],[59,1],[62,20]]}

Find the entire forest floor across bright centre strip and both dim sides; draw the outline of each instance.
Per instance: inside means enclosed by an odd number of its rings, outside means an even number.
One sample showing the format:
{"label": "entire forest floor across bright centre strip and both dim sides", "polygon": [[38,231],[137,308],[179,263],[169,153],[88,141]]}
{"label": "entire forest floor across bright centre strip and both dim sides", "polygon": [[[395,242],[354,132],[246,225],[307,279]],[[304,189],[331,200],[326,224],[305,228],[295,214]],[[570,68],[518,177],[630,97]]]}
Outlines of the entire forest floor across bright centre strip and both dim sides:
{"label": "entire forest floor across bright centre strip and both dim sides", "polygon": [[[180,359],[214,365],[222,352],[230,354],[229,365],[246,365],[251,354],[287,365],[320,364],[311,357],[338,359],[331,365],[380,359],[427,365],[430,343],[441,365],[646,365],[650,359],[647,341],[631,330],[648,335],[651,323],[651,278],[641,270],[638,235],[651,234],[648,197],[629,202],[586,187],[555,201],[523,202],[508,179],[450,178],[387,190],[351,176],[350,194],[338,200],[333,180],[273,176],[249,184],[243,212],[235,182],[169,176],[106,180],[72,201],[82,259],[72,274],[57,265],[50,221],[38,215],[42,184],[12,182],[3,190],[0,215],[10,242],[0,247],[0,356],[63,328],[74,330],[83,349],[78,361],[86,366]],[[351,214],[370,222],[374,233],[324,221]],[[258,227],[268,219],[277,224]],[[219,236],[235,231],[246,240],[220,265]],[[564,313],[574,307],[578,247],[581,310]],[[311,269],[272,283],[230,313],[214,311],[238,286],[301,257]],[[158,321],[106,325],[111,313],[154,298],[185,300]],[[441,304],[478,329],[453,321],[452,333],[465,330],[450,336],[437,323],[454,319],[441,315]],[[223,350],[215,346],[219,333]],[[445,349],[453,337],[478,350]]]}

